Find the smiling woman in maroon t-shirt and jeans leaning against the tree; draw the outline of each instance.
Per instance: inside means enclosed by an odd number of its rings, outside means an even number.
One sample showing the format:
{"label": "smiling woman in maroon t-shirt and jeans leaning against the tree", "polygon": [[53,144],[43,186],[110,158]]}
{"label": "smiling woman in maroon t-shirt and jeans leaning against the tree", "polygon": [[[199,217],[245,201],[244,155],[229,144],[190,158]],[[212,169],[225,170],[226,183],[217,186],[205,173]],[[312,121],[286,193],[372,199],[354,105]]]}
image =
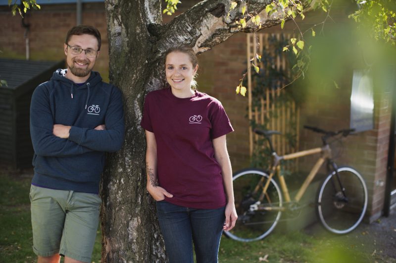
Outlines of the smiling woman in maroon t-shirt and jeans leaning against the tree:
{"label": "smiling woman in maroon t-shirt and jeans leaning against the tree", "polygon": [[234,227],[233,131],[221,103],[195,90],[197,56],[180,45],[165,54],[170,87],[148,93],[141,125],[147,140],[147,189],[170,263],[215,263],[223,230]]}

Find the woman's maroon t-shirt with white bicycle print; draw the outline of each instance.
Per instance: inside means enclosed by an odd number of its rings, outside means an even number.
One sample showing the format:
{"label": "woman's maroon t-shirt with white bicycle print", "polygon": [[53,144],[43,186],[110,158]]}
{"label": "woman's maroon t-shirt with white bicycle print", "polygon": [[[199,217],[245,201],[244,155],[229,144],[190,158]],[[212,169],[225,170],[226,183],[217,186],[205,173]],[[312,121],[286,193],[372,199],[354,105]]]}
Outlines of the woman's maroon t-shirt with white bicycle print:
{"label": "woman's maroon t-shirt with white bicycle print", "polygon": [[155,135],[158,185],[173,194],[165,201],[203,209],[226,204],[212,140],[234,129],[218,100],[198,91],[189,98],[170,88],[152,91],[141,125]]}

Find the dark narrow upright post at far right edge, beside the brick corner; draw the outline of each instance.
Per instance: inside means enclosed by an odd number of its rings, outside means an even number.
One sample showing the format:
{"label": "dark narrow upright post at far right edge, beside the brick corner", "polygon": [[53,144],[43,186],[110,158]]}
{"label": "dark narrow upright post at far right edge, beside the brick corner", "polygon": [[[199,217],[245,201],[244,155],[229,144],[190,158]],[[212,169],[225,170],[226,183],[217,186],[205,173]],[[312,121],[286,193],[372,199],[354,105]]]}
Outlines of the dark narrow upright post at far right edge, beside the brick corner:
{"label": "dark narrow upright post at far right edge, beside the brick corner", "polygon": [[[394,180],[395,170],[395,118],[396,118],[396,91],[393,86],[396,85],[396,65],[389,67],[386,85],[389,85],[391,90],[392,106],[391,106],[391,132],[389,135],[389,149],[388,149],[388,165],[387,165],[387,180],[385,185],[385,200],[384,200],[384,216],[388,217],[391,208],[391,192]],[[389,81],[389,82],[388,82]]]}

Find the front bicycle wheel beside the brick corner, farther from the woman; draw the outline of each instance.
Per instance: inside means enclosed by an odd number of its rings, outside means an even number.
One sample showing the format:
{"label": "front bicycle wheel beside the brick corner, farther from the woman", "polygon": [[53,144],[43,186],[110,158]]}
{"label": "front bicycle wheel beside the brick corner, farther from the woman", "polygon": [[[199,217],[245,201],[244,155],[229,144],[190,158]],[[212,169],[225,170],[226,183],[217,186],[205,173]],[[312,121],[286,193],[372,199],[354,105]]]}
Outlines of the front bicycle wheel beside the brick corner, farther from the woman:
{"label": "front bicycle wheel beside the brick corner, farther from the woman", "polygon": [[318,189],[316,212],[327,230],[346,234],[360,224],[366,213],[367,187],[355,169],[339,167],[337,172],[339,180],[333,172]]}

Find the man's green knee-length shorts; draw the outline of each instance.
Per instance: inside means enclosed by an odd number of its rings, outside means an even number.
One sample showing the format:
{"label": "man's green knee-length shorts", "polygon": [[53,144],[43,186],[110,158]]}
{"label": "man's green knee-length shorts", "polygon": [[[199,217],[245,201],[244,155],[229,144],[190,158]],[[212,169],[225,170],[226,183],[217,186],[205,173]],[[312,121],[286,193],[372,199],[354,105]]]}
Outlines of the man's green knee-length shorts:
{"label": "man's green knee-length shorts", "polygon": [[99,224],[100,197],[94,193],[31,186],[33,250],[91,262]]}

